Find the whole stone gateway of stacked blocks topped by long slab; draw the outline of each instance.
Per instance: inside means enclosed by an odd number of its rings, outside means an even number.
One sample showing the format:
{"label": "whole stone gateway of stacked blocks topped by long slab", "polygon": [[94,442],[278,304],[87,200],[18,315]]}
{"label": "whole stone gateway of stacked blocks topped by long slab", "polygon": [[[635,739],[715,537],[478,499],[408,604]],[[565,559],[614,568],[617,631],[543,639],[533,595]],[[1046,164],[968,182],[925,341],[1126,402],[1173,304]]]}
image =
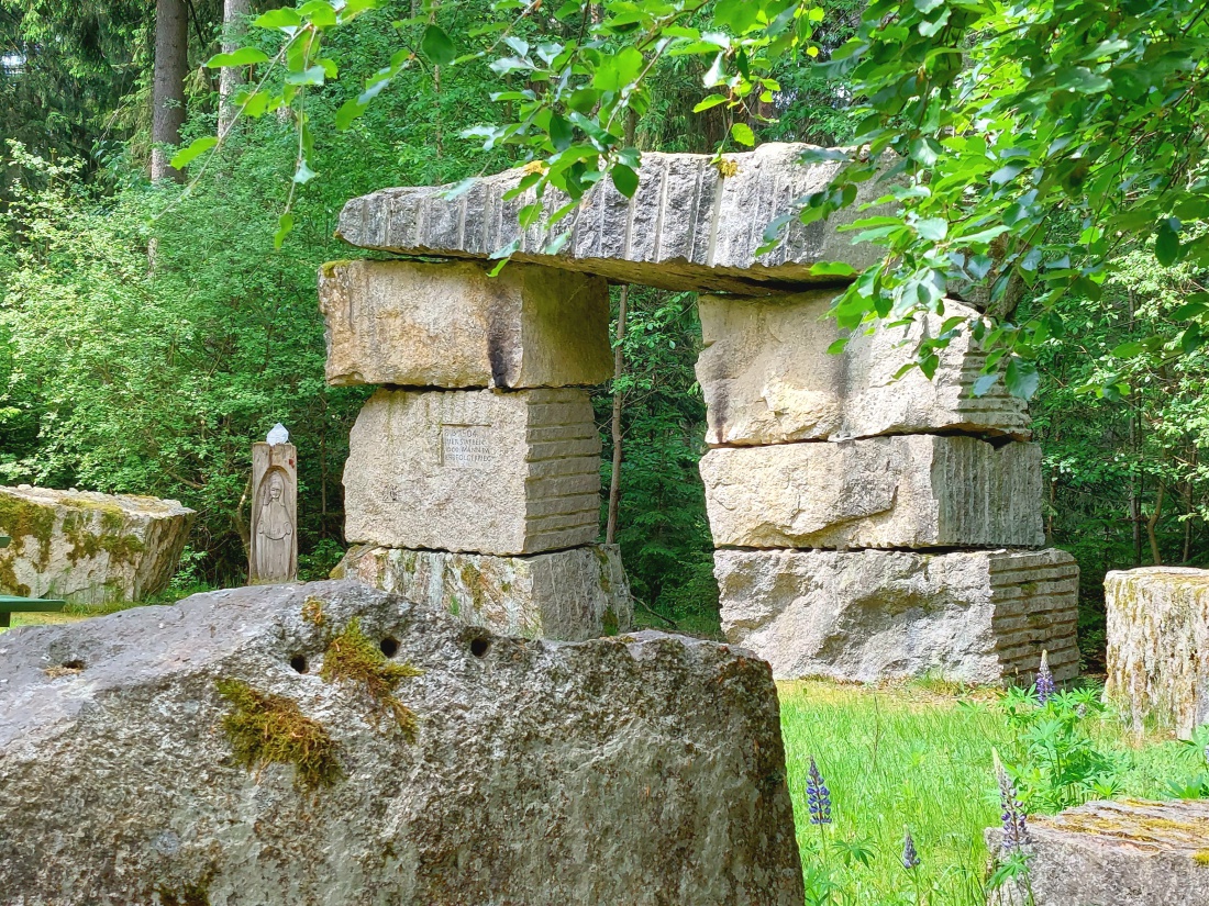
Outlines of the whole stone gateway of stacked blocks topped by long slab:
{"label": "whole stone gateway of stacked blocks topped by long slab", "polygon": [[[371,546],[346,571],[452,596],[459,610],[464,598],[463,616],[504,631],[624,626],[617,554],[592,544],[600,442],[582,388],[611,374],[606,280],[695,290],[701,472],[728,638],[785,678],[1029,681],[1042,650],[1059,679],[1075,675],[1078,570],[1040,550],[1041,459],[1023,405],[973,396],[983,359],[967,338],[933,381],[892,379],[939,319],[827,353],[839,333],[822,315],[838,290],[812,267],[861,269],[877,255],[841,222],[791,220],[760,254],[765,225],[839,165],[803,165],[802,150],[734,155],[725,175],[707,156],[647,153],[635,197],[597,184],[557,255],[544,254],[545,221],[517,223],[532,193],[505,198],[522,170],[459,194],[351,201],[339,231],[351,244],[446,262],[320,277],[329,381],[387,385],[353,432],[348,536]],[[880,190],[862,191],[858,203]],[[565,202],[549,194],[546,215]],[[449,261],[508,248],[501,280]]]}

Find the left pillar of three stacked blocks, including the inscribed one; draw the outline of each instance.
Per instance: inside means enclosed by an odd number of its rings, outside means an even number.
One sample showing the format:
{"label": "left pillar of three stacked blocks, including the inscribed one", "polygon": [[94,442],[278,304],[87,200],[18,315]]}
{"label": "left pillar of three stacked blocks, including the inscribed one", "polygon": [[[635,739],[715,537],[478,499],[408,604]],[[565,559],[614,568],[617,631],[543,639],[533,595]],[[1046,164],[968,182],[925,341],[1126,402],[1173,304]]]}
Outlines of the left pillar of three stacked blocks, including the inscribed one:
{"label": "left pillar of three stacked blocks, including the inscribed one", "polygon": [[349,436],[336,575],[516,635],[629,626],[600,534],[588,390],[612,377],[603,279],[354,261],[319,275],[328,381],[381,384]]}

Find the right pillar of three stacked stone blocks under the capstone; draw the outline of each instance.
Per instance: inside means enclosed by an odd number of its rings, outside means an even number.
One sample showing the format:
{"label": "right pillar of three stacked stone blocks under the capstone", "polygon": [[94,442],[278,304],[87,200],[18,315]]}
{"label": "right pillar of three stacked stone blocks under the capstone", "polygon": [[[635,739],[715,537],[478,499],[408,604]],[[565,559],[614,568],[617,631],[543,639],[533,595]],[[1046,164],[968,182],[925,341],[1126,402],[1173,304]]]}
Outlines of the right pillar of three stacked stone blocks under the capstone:
{"label": "right pillar of three stacked stone blocks under the capstone", "polygon": [[[1078,568],[1045,544],[1024,405],[976,397],[967,335],[918,370],[942,318],[851,337],[834,290],[701,296],[701,461],[727,638],[779,678],[1028,684],[1078,670]],[[972,315],[948,302],[945,316]]]}

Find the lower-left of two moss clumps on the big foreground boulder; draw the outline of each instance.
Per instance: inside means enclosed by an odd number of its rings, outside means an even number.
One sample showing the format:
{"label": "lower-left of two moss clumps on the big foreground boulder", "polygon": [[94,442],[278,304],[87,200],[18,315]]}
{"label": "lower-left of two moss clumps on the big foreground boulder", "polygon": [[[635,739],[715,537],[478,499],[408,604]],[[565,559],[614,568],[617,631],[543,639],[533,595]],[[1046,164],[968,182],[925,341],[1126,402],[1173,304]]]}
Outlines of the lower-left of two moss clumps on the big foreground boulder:
{"label": "lower-left of two moss clumps on the big foreground boulder", "polygon": [[331,786],[343,777],[340,744],[297,702],[253,689],[238,679],[219,680],[219,695],[231,710],[222,730],[237,765],[260,772],[272,763],[293,765],[295,785],[307,792]]}

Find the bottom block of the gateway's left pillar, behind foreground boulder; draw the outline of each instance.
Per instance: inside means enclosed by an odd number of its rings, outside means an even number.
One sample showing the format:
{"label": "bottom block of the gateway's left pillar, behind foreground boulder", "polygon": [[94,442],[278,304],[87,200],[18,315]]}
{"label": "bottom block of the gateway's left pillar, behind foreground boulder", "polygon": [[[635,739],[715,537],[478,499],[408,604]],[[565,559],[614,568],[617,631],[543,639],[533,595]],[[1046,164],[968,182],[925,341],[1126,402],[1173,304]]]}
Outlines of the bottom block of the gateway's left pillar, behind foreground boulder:
{"label": "bottom block of the gateway's left pillar, behind foreground boulder", "polygon": [[398,592],[504,635],[579,641],[630,628],[634,600],[617,546],[530,557],[353,547],[332,579]]}

